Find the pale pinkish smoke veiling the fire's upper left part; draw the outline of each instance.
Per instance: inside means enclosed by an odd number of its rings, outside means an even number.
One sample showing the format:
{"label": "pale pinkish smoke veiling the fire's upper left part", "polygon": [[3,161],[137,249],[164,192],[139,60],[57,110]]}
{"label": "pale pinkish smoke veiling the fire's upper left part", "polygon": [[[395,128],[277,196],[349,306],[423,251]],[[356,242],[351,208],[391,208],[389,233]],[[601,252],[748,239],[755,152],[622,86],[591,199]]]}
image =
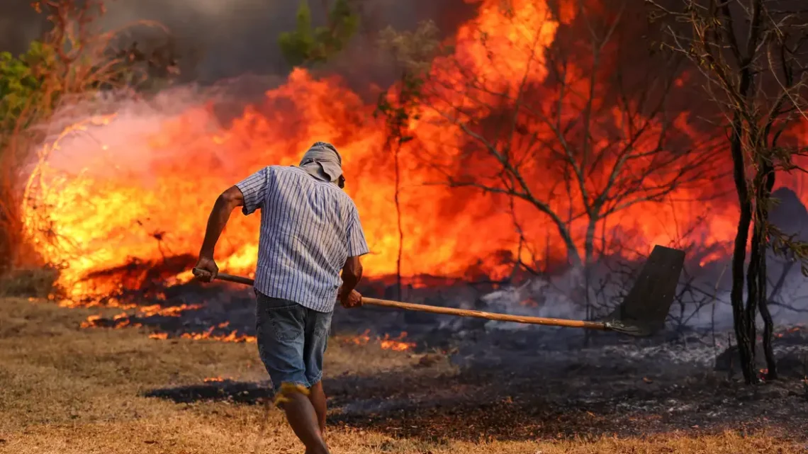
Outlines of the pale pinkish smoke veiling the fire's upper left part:
{"label": "pale pinkish smoke veiling the fire's upper left part", "polygon": [[[221,132],[221,121],[207,106],[226,107],[228,102],[235,101],[229,99],[226,90],[192,84],[162,90],[150,99],[104,94],[90,102],[66,106],[48,122],[48,142],[57,142],[48,165],[93,179],[134,179],[143,187],[154,183],[153,166],[166,160],[221,160],[225,168],[220,171],[225,171],[229,161],[213,142],[164,146],[161,134],[178,124],[189,128],[189,137]],[[65,130],[71,132],[62,134]]]}

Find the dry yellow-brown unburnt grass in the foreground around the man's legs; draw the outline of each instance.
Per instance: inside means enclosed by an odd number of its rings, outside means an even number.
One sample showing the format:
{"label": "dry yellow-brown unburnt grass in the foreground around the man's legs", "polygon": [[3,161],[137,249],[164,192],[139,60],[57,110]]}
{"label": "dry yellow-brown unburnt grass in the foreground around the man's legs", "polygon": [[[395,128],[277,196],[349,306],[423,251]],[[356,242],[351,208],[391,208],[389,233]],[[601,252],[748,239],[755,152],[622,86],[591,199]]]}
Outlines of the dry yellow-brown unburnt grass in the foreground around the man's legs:
{"label": "dry yellow-brown unburnt grass in the foreground around the man's legs", "polygon": [[[89,311],[0,299],[0,452],[303,452],[277,410],[233,402],[176,404],[142,397],[205,377],[264,380],[255,344],[158,341],[135,328],[80,330]],[[411,369],[406,353],[332,343],[330,374]],[[446,372],[446,364],[431,366]],[[358,372],[360,369],[361,372]],[[421,372],[423,373],[423,371]],[[519,421],[513,423],[519,424]],[[668,434],[648,439],[429,443],[381,431],[335,427],[335,453],[808,452],[773,435]],[[256,449],[257,448],[257,449]]]}

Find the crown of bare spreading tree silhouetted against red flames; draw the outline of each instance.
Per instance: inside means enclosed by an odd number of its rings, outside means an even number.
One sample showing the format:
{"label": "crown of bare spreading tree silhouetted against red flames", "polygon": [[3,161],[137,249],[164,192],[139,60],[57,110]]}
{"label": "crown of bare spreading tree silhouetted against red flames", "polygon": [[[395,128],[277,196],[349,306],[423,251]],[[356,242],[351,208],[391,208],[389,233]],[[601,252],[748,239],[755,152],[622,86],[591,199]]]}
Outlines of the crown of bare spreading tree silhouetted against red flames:
{"label": "crown of bare spreading tree silhouetted against red flames", "polygon": [[410,134],[446,132],[454,142],[419,149],[441,184],[527,204],[587,271],[609,216],[695,187],[714,149],[669,108],[681,59],[625,53],[625,2],[542,7],[467,23],[432,61]]}

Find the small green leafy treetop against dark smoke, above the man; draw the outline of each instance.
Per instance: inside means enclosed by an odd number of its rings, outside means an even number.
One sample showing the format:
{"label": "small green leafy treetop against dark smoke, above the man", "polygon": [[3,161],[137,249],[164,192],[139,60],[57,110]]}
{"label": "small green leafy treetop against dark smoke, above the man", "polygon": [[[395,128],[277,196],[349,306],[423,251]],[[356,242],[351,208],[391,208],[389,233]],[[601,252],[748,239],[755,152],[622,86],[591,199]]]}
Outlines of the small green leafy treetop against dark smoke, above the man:
{"label": "small green leafy treetop against dark smoke, above the man", "polygon": [[278,44],[290,65],[322,63],[345,48],[359,28],[359,15],[351,11],[348,0],[336,0],[328,13],[325,27],[313,27],[309,3],[301,1],[297,10],[297,29],[280,34]]}

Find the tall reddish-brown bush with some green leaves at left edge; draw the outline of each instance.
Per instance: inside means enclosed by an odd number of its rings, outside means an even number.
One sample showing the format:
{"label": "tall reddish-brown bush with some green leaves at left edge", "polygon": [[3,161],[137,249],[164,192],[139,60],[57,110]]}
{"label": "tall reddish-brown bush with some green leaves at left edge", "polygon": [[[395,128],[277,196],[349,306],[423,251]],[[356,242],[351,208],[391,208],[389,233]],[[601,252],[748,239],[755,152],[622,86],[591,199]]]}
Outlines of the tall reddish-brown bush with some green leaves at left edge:
{"label": "tall reddish-brown bush with some green leaves at left edge", "polygon": [[[48,120],[53,112],[93,99],[99,90],[137,87],[145,76],[133,48],[116,52],[116,32],[93,27],[104,14],[103,0],[48,0],[32,6],[48,15],[51,30],[19,57],[0,53],[0,272],[39,259],[53,263],[36,257],[36,247],[27,249],[30,238],[21,211],[34,145],[52,133]],[[172,62],[164,63],[171,67]],[[149,61],[149,69],[154,67]],[[45,238],[51,233],[42,232]]]}

